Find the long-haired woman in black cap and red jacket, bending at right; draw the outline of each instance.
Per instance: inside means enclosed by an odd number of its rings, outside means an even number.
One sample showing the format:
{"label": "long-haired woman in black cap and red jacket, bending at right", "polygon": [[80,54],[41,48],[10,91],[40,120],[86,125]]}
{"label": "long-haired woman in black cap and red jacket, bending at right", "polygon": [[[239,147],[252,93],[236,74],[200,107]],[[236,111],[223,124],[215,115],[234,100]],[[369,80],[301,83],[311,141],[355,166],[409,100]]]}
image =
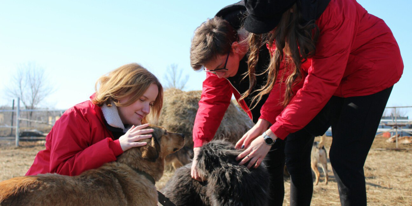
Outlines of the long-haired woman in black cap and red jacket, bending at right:
{"label": "long-haired woman in black cap and red jacket, bending at right", "polygon": [[[269,129],[256,126],[251,133],[259,132],[237,143],[237,148],[247,148],[238,156],[243,158],[240,164],[250,158],[259,164],[271,149],[265,139],[286,138],[290,205],[309,206],[310,150],[301,151],[312,146],[308,139],[331,126],[329,157],[340,202],[366,206],[363,166],[393,85],[403,72],[391,30],[356,0],[245,0],[245,6],[244,28],[251,32],[250,79],[258,74],[255,61],[262,43],[272,55],[269,80],[256,99],[270,94],[266,102],[277,99],[284,108],[269,116],[274,123]],[[290,161],[296,154],[302,155],[298,166]]]}

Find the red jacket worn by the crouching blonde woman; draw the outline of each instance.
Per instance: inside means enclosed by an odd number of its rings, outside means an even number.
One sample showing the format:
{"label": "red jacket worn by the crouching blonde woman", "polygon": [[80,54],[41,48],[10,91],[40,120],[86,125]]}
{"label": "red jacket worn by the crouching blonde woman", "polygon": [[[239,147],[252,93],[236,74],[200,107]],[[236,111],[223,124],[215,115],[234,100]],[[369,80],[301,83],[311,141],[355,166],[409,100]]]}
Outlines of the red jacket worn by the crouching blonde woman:
{"label": "red jacket worn by the crouching blonde woman", "polygon": [[102,110],[91,101],[65,111],[47,135],[46,149],[37,153],[26,175],[74,176],[115,161],[123,151],[104,121]]}

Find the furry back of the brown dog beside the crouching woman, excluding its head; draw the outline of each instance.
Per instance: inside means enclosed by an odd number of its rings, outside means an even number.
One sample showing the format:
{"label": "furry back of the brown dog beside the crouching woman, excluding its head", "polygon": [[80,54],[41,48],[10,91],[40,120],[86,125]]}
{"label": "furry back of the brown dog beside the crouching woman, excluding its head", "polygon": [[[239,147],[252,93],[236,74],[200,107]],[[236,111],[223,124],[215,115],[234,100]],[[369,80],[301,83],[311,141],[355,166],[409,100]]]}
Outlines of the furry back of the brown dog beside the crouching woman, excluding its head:
{"label": "furry back of the brown dog beside the crouching woman, excluding its head", "polygon": [[154,194],[151,199],[156,200],[154,185],[139,175],[126,165],[112,162],[78,176],[39,174],[16,177],[0,183],[0,206],[120,206],[129,201],[138,202],[134,200],[135,192],[148,190],[151,191],[149,194]]}

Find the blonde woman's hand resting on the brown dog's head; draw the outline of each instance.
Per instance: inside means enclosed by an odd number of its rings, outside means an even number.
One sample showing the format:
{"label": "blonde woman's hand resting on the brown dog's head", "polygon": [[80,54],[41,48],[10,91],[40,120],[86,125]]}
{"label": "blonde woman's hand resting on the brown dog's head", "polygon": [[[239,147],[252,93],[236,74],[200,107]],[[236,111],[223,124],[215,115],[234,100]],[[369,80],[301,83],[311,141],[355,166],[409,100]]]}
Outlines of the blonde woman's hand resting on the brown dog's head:
{"label": "blonde woman's hand resting on the brown dog's head", "polygon": [[151,138],[152,135],[143,135],[147,133],[153,132],[153,129],[143,129],[145,127],[148,127],[149,124],[144,124],[144,125],[139,125],[137,127],[132,126],[126,134],[122,135],[119,138],[119,143],[120,146],[122,147],[123,152],[132,148],[132,147],[140,147],[144,146],[147,143],[138,143],[137,141],[143,140],[143,139],[148,139]]}

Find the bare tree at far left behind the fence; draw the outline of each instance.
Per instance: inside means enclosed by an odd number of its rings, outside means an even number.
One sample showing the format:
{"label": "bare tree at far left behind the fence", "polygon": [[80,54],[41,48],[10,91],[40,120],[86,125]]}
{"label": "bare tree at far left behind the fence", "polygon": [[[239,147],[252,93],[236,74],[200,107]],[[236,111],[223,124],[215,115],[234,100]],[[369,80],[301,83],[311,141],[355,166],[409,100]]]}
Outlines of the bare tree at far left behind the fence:
{"label": "bare tree at far left behind the fence", "polygon": [[[27,110],[37,108],[48,95],[54,92],[44,69],[32,62],[18,66],[17,73],[5,90],[10,97],[20,97]],[[31,119],[32,111],[29,112],[29,115]]]}

